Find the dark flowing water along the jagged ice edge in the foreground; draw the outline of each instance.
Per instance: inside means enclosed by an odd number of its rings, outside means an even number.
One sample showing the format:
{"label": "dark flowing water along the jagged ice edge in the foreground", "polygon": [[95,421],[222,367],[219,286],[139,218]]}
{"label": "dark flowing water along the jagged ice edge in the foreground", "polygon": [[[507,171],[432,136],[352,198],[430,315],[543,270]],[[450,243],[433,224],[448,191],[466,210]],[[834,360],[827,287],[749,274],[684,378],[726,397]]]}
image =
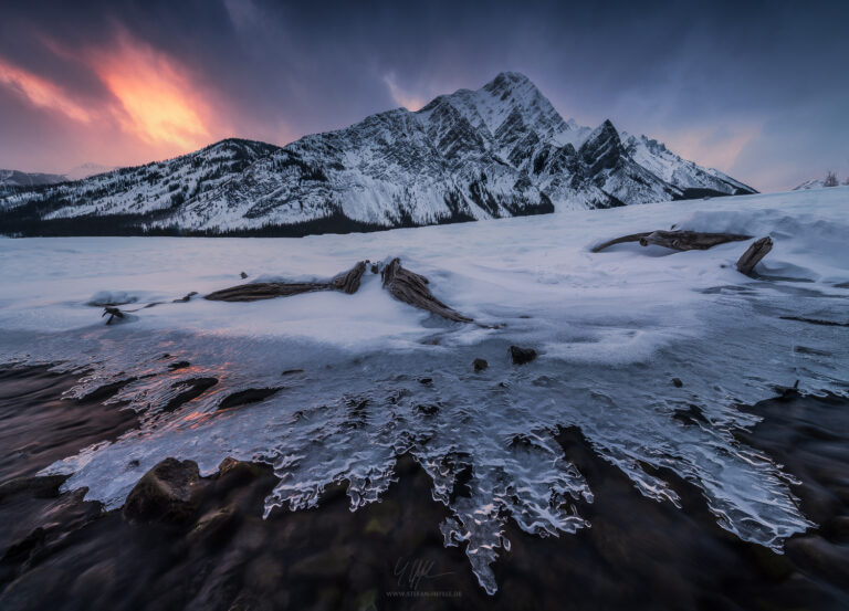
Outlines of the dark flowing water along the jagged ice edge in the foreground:
{"label": "dark flowing water along the jagged ice edge in the foreground", "polygon": [[409,456],[381,503],[350,513],[335,487],[317,509],[266,520],[276,478],[264,465],[205,478],[180,523],[132,524],[80,492],[59,494],[60,478],[20,478],[133,425],[132,414],[102,408],[103,397],[60,401],[72,383],[44,369],[0,372],[2,610],[849,609],[843,399],[765,401],[751,408],[765,421],[740,433],[801,481],[801,509],[821,525],[785,555],[721,529],[700,492],[672,473],[661,475],[682,509],[641,496],[579,430],[563,430],[558,442],[596,495],[579,507],[593,526],[542,539],[511,524],[489,597],[463,550],[443,547],[446,508]]}

